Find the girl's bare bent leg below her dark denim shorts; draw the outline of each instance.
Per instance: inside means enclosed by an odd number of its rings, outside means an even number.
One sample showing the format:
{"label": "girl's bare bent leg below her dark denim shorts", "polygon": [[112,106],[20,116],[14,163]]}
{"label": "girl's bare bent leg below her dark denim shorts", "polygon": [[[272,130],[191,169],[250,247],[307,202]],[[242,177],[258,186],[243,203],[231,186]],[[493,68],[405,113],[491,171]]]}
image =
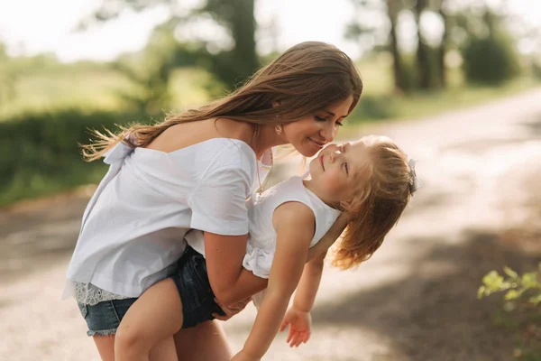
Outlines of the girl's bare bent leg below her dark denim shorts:
{"label": "girl's bare bent leg below her dark denim shorts", "polygon": [[182,320],[175,282],[168,278],[152,285],[133,303],[116,331],[115,361],[148,360],[151,349],[179,331]]}

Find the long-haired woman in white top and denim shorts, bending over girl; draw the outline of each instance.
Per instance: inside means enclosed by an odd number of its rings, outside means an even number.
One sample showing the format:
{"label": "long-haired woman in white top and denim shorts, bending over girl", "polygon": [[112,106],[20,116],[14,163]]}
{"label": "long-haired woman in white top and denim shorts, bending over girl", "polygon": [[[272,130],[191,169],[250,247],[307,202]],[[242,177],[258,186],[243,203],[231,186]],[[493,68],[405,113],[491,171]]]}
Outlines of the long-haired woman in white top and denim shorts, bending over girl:
{"label": "long-haired woman in white top and denim shorts, bending over girl", "polygon": [[[111,167],[83,216],[67,291],[102,359],[114,359],[115,331],[131,304],[174,273],[190,228],[204,231],[209,281],[217,301],[229,305],[225,318],[265,287],[247,290],[237,279],[248,233],[245,200],[266,178],[261,161],[271,165],[271,148],[280,144],[315,155],[335,138],[361,93],[362,81],[344,52],[304,42],[214,104],[159,125],[98,134],[101,141],[87,146],[85,155],[105,155]],[[322,247],[345,223],[331,228]],[[228,359],[213,321],[179,331],[175,344],[180,360]],[[151,357],[160,359],[168,347],[155,347]]]}

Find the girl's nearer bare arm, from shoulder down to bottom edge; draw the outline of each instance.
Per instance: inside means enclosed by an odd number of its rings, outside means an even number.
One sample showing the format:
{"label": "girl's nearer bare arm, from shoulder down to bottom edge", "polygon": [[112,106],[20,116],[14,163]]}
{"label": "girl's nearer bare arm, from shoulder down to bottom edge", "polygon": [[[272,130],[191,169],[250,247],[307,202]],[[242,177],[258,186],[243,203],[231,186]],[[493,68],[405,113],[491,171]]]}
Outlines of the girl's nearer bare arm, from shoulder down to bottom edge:
{"label": "girl's nearer bare arm, from shoulder down to bottom edge", "polygon": [[271,346],[302,275],[315,221],[312,210],[298,202],[285,203],[275,210],[272,222],[277,245],[269,286],[250,336],[234,360],[259,360]]}

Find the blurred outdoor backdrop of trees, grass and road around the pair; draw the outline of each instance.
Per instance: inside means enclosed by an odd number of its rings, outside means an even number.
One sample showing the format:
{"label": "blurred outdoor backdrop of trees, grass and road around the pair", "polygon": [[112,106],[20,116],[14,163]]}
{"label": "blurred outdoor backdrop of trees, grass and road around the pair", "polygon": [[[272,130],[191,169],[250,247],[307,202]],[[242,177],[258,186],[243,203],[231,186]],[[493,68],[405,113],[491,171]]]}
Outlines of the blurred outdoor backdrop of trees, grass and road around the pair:
{"label": "blurred outdoor backdrop of trees, grass and road around the pair", "polygon": [[[392,136],[425,188],[368,263],[326,274],[311,346],[279,339],[266,359],[541,360],[533,0],[0,2],[1,360],[97,359],[58,301],[106,171],[81,160],[87,129],[203,105],[303,41],[335,44],[362,74],[339,138]],[[252,317],[225,324],[233,347]]]}

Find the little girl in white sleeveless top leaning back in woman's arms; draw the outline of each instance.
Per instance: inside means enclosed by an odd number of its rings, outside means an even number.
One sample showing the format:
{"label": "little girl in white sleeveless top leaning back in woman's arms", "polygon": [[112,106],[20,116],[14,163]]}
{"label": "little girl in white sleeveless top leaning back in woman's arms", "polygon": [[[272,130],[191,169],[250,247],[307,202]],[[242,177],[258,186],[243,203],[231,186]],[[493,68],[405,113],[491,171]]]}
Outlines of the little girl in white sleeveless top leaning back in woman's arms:
{"label": "little girl in white sleeveless top leaning back in woman's arms", "polygon": [[[293,177],[249,202],[250,236],[243,272],[268,278],[269,282],[267,289],[254,297],[258,315],[234,360],[261,359],[282,319],[282,329],[291,326],[291,346],[306,342],[309,327],[302,325],[309,325],[308,312],[325,257],[306,264],[308,249],[326,234],[342,211],[347,211],[350,222],[334,264],[350,268],[362,263],[380,247],[415,191],[416,175],[407,155],[382,136],[329,145],[310,162],[309,171],[311,179]],[[116,361],[148,360],[151,347],[161,340],[180,328],[213,319],[213,314],[220,312],[206,275],[204,243],[198,237],[188,236],[187,240],[190,246],[178,263],[184,282],[158,282],[135,301],[117,330]],[[286,315],[296,289],[293,307]],[[170,309],[178,303],[182,310],[179,317]],[[176,360],[176,355],[171,359]]]}

